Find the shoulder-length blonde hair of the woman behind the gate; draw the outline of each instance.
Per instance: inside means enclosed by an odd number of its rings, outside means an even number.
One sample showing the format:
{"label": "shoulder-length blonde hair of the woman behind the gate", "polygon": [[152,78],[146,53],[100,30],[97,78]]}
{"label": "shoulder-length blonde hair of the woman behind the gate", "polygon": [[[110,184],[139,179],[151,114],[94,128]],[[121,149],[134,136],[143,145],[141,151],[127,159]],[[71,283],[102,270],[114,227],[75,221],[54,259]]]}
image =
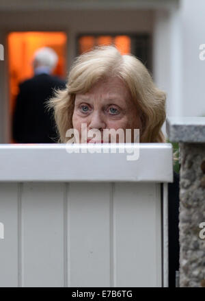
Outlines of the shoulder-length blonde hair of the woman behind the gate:
{"label": "shoulder-length blonde hair of the woman behind the gate", "polygon": [[[78,56],[68,75],[64,90],[55,91],[47,103],[54,110],[60,143],[66,143],[66,131],[72,126],[74,99],[86,93],[102,78],[118,76],[124,81],[141,114],[139,142],[165,143],[161,127],[165,121],[166,95],[154,85],[148,69],[131,54],[122,55],[114,46],[95,47]],[[68,140],[68,139],[67,139]]]}

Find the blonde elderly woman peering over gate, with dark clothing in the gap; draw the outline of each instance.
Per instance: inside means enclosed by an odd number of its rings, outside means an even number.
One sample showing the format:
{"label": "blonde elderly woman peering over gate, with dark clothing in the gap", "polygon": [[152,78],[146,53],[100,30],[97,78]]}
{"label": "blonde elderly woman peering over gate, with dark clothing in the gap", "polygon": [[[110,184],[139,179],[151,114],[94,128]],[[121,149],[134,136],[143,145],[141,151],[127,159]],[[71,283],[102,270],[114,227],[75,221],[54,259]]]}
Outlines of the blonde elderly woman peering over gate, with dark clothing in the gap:
{"label": "blonde elderly woman peering over gate, with dark clothing in the gap", "polygon": [[[79,142],[105,143],[103,131],[139,129],[140,143],[164,143],[161,126],[165,121],[165,93],[154,85],[146,67],[131,54],[121,55],[113,46],[98,47],[79,56],[72,65],[64,90],[49,101],[54,109],[59,142],[74,128]],[[86,131],[99,130],[100,138],[82,139]],[[116,142],[121,142],[119,139]],[[178,177],[169,184],[169,286],[178,270]]]}

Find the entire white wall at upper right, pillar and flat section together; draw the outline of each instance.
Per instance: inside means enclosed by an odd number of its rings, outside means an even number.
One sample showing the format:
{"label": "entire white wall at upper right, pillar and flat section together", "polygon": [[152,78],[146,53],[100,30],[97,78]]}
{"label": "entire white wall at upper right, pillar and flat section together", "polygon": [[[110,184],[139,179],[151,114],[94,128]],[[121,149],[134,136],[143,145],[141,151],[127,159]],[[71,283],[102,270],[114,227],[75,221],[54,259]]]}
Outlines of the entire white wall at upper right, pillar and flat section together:
{"label": "entire white wall at upper right, pillar and flat section together", "polygon": [[174,10],[155,13],[154,79],[167,93],[169,116],[205,115],[204,15],[204,0],[181,0]]}

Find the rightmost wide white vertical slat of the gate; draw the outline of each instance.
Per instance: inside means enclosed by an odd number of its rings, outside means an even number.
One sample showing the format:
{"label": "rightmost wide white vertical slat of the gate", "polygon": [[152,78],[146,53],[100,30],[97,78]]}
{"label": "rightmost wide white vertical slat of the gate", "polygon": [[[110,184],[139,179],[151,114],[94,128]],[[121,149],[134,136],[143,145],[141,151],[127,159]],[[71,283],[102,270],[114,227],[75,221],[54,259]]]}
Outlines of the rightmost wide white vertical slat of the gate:
{"label": "rightmost wide white vertical slat of the gate", "polygon": [[115,286],[161,287],[160,184],[115,184]]}

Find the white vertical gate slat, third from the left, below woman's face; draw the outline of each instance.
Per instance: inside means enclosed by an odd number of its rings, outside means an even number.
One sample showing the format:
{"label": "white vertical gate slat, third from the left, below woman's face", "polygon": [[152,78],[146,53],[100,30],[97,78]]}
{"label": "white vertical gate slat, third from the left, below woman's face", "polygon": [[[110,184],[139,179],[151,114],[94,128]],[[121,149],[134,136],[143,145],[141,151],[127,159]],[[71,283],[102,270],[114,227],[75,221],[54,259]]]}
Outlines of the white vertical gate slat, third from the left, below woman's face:
{"label": "white vertical gate slat, third from the left, below woman's face", "polygon": [[68,286],[109,287],[110,185],[71,183],[68,193]]}

